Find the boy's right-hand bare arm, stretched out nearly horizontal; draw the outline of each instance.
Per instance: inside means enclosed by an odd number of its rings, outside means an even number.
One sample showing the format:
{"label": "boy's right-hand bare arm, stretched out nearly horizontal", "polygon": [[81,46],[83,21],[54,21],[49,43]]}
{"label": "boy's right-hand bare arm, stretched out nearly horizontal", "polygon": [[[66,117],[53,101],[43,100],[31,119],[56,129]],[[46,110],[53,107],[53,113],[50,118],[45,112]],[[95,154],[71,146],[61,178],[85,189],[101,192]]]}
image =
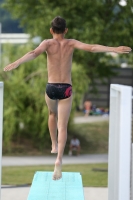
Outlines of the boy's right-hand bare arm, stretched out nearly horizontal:
{"label": "boy's right-hand bare arm, stretched out nearly horizontal", "polygon": [[108,47],[108,46],[103,46],[99,44],[94,44],[94,45],[85,44],[77,40],[73,40],[73,42],[74,42],[74,48],[93,52],[93,53],[97,53],[97,52],[129,53],[130,51],[132,51],[130,47],[126,47],[126,46]]}

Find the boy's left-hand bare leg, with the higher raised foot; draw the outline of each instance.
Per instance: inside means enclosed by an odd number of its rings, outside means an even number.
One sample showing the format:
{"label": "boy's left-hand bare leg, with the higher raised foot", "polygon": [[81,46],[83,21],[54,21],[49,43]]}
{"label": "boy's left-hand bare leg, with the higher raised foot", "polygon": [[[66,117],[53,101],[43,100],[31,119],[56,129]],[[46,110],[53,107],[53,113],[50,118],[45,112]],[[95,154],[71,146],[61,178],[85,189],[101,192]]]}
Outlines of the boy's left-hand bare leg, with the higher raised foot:
{"label": "boy's left-hand bare leg, with the higher raised foot", "polygon": [[47,94],[45,94],[45,100],[49,109],[48,127],[52,142],[51,153],[57,153],[57,100],[50,99]]}

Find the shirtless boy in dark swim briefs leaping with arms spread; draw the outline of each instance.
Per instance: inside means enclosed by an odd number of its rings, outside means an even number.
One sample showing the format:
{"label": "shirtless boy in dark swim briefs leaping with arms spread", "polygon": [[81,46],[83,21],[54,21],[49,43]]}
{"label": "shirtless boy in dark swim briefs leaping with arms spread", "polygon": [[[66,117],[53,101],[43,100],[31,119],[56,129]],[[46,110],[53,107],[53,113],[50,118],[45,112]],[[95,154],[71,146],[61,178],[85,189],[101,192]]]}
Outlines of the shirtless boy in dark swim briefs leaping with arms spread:
{"label": "shirtless boy in dark swim briefs leaping with arms spread", "polygon": [[[35,59],[41,53],[47,54],[48,84],[45,100],[49,110],[48,126],[52,141],[51,153],[57,153],[53,179],[62,176],[62,157],[67,140],[67,124],[72,106],[71,67],[74,49],[88,52],[129,53],[130,47],[107,47],[98,44],[85,44],[75,39],[65,39],[66,21],[55,17],[51,23],[52,39],[44,40],[35,50],[7,65],[4,71],[17,68],[20,64]],[[58,120],[57,120],[58,119]],[[58,129],[58,138],[57,138]]]}

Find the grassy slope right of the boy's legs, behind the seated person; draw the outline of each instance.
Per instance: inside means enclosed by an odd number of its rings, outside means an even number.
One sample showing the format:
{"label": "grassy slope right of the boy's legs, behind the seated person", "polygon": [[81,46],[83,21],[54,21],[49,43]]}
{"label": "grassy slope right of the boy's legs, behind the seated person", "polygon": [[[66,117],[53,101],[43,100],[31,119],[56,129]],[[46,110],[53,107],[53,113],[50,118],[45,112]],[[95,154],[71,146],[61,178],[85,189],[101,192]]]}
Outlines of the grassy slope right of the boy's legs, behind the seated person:
{"label": "grassy slope right of the boy's legs, behind the seated person", "polygon": [[66,151],[68,151],[70,139],[72,135],[77,135],[81,142],[82,154],[107,153],[108,152],[108,136],[109,122],[95,122],[74,124],[72,131],[68,132],[68,142]]}

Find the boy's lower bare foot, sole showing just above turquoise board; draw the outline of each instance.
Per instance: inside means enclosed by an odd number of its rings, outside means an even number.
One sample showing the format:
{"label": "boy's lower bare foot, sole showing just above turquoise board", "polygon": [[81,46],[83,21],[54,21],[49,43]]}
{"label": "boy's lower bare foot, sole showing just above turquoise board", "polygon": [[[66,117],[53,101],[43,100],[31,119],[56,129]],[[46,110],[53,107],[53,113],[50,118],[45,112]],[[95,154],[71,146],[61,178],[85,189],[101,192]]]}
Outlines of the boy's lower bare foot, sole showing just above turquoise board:
{"label": "boy's lower bare foot, sole showing just above turquoise board", "polygon": [[61,167],[62,167],[61,161],[59,161],[59,160],[56,161],[54,173],[53,173],[53,180],[59,180],[62,177]]}

